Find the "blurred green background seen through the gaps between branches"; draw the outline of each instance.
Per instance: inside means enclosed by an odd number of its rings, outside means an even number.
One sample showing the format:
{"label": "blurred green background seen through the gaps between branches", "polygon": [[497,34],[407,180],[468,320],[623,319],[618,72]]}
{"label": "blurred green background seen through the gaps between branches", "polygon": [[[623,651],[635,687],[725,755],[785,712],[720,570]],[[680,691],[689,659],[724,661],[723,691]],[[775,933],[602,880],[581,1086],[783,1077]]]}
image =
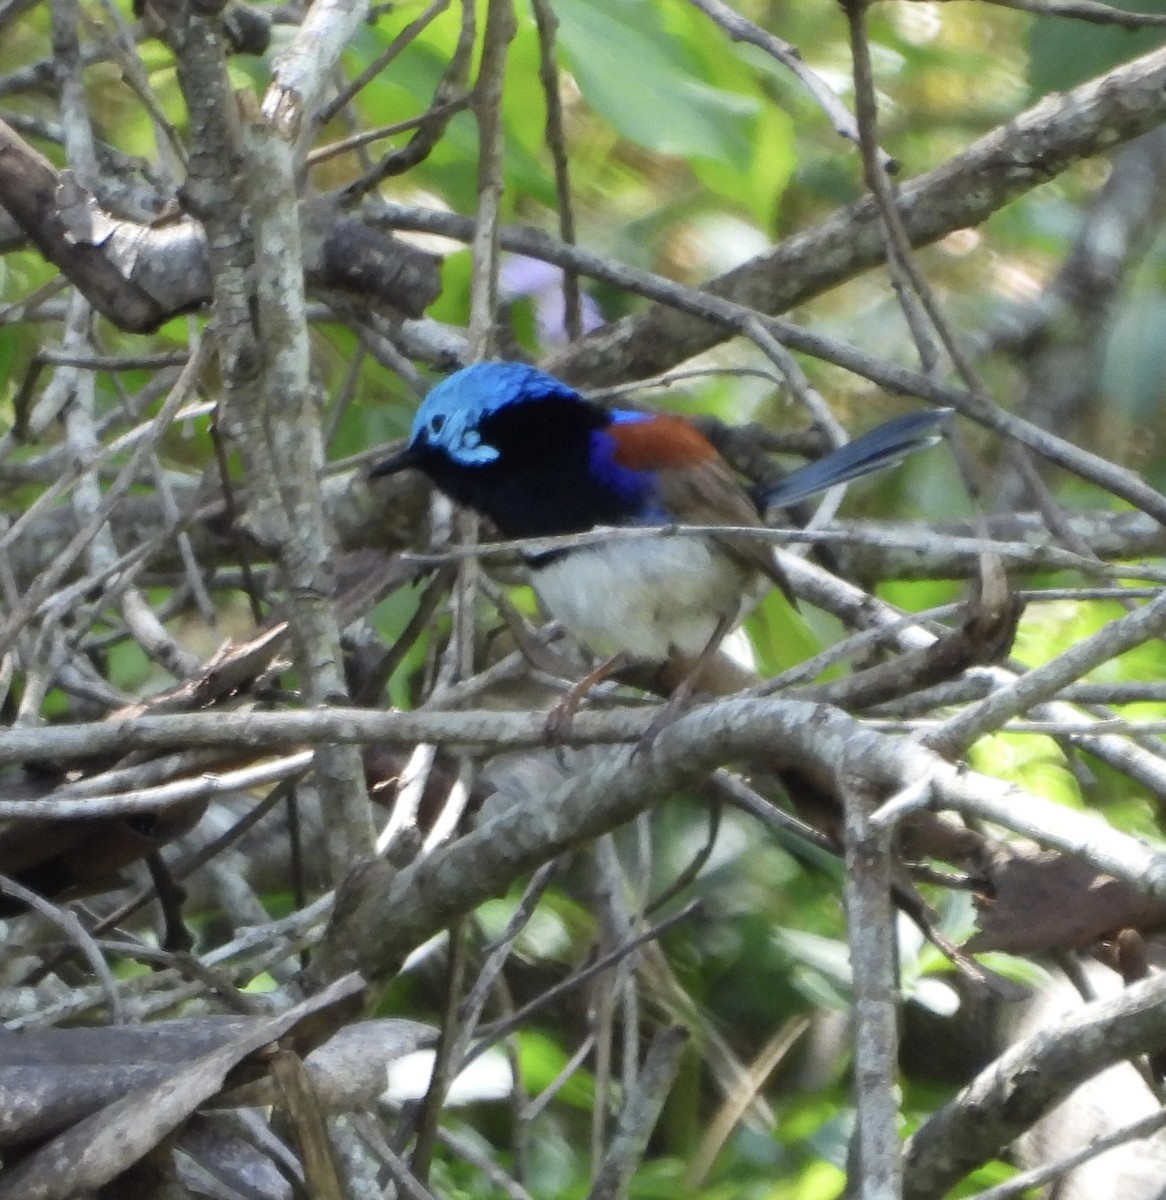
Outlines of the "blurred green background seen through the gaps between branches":
{"label": "blurred green background seen through the gaps between branches", "polygon": [[[1161,0],[1142,8],[1166,14]],[[553,10],[576,240],[587,251],[696,286],[812,228],[864,193],[857,151],[837,137],[801,85],[757,47],[732,41],[698,8],[679,0],[555,0]],[[839,7],[810,0],[741,0],[739,10],[797,46],[807,66],[853,107],[847,24]],[[302,13],[294,4],[257,11],[270,24],[268,46],[260,53],[234,53],[228,64],[233,85],[262,94],[272,58]],[[380,202],[438,216],[474,214],[477,128],[464,103],[450,104],[452,115],[432,131],[425,152],[411,140],[411,128],[351,144],[359,133],[414,121],[443,86],[464,96],[464,80],[449,79],[463,16],[457,6],[438,2],[426,8],[405,0],[383,6],[361,26],[344,54],[345,80],[383,61],[403,31],[410,36],[313,133],[303,167],[305,197],[343,194],[350,211],[372,215]],[[79,66],[66,61],[66,28],[76,32]],[[118,216],[157,226],[175,216],[187,130],[173,56],[149,29],[149,12],[131,11],[120,0],[67,6],[7,0],[0,6],[0,120],[55,167],[76,166],[64,149],[60,97],[67,80],[80,79],[98,164],[97,176],[83,179],[84,185]],[[901,163],[900,180],[938,167],[1041,97],[1064,92],[1166,41],[1166,32],[1156,29],[1129,31],[1003,4],[909,0],[872,7],[869,32],[879,140]],[[503,222],[558,236],[561,205],[546,140],[539,32],[525,5],[517,10],[501,114]],[[1164,182],[1166,134],[1150,132],[1057,174],[981,226],[956,229],[915,257],[999,404],[1141,472],[1158,487],[1166,485]],[[431,223],[440,227],[437,218]],[[361,486],[362,461],[354,462],[354,456],[404,436],[419,388],[452,365],[451,346],[464,346],[459,337],[469,320],[471,277],[464,230],[456,238],[419,232],[398,236],[439,259],[440,290],[423,317],[391,317],[374,328],[359,300],[349,298],[344,307],[333,293],[309,289],[312,374],[324,407],[329,478],[337,488]],[[56,268],[11,221],[0,220],[0,532],[34,504],[42,505],[38,523],[4,547],[11,611],[79,520],[67,496],[50,493],[71,461],[73,443],[62,421],[67,406],[77,401],[54,385],[65,360],[44,354],[60,348],[70,319],[71,301]],[[612,283],[583,277],[581,286],[584,334],[648,307]],[[507,354],[571,361],[557,268],[504,253],[501,296],[500,338]],[[830,287],[785,316],[879,359],[918,365],[884,269]],[[181,370],[192,334],[204,329],[206,319],[202,310],[174,316],[143,335],[86,318],[89,353],[113,362],[109,368],[86,368],[92,446],[109,451],[94,473],[98,490],[126,460],[128,448],[119,448],[118,438],[156,412]],[[403,329],[408,336],[397,337]],[[443,342],[443,331],[449,341]],[[890,397],[811,356],[799,361],[852,432],[916,403]],[[638,401],[727,426],[761,422],[779,433],[800,433],[811,424],[770,364],[740,340],[722,342],[685,367],[692,374],[683,382],[637,394]],[[149,524],[152,518],[140,529],[134,524],[133,504],[164,506],[166,493],[185,508],[215,485],[215,398],[210,370],[197,400],[161,437],[150,469],[127,494],[128,506],[118,518],[125,523],[115,522],[122,551],[133,545],[136,529],[143,536],[157,529]],[[1016,470],[999,439],[962,422],[960,430],[970,476],[982,490],[980,510],[1033,510],[1030,481]],[[245,484],[236,464],[228,474]],[[1064,474],[1048,472],[1044,479],[1063,512],[1100,514],[1105,524],[1125,508]],[[143,511],[150,511],[148,504]],[[422,504],[414,515],[423,512]],[[975,512],[976,502],[951,456],[937,451],[853,490],[842,517],[938,523],[966,522]],[[378,541],[379,527],[368,521],[367,510],[349,524],[337,516],[344,538],[354,544]],[[419,526],[414,521],[410,528]],[[197,664],[224,638],[250,636],[257,613],[239,563],[223,551],[222,530],[187,533],[204,569],[205,596],[192,593],[186,569],[173,556],[148,562],[138,586],[174,643]],[[1131,542],[1128,553],[1114,545],[1106,557],[1153,552],[1144,540]],[[257,570],[259,616],[265,617],[277,598],[264,590],[264,568]],[[928,574],[924,566],[912,577],[900,572],[882,578],[877,590],[906,610],[920,611],[964,595],[966,574]],[[1072,589],[1088,582],[1075,571],[1036,569],[1014,582],[1033,593],[1051,592],[1044,602],[1033,596],[1022,620],[1015,655],[1024,664],[1046,661],[1125,611],[1112,596],[1075,598]],[[521,611],[533,612],[533,598],[521,582],[505,577],[503,583]],[[395,646],[410,628],[423,588],[423,582],[401,588],[367,614],[378,644]],[[16,658],[6,658],[6,721],[92,719],[175,683],[173,670],[127,630],[115,602],[101,595],[78,602],[85,606],[79,624],[71,617],[53,630],[30,626]],[[499,620],[485,604],[480,620],[486,646]],[[438,604],[402,654],[383,702],[409,706],[421,698],[447,632],[449,617]],[[76,672],[62,680],[55,667],[36,673],[31,685],[28,664],[58,634],[66,648],[62,661],[85,661],[88,688]],[[842,634],[833,617],[806,606],[795,612],[774,595],[747,623],[738,650],[773,674]],[[488,655],[487,649],[481,653]],[[831,668],[827,677],[841,671]],[[1149,642],[1110,662],[1096,678],[1154,682],[1164,672],[1166,648]],[[1147,701],[1124,712],[1160,719],[1166,718],[1166,704]],[[1100,763],[1082,767],[1080,757],[1070,760],[1051,738],[993,734],[974,748],[970,760],[1039,794],[1096,806],[1124,830],[1159,835],[1155,802]],[[242,808],[253,799],[246,793]],[[311,822],[309,811],[305,820]],[[244,844],[236,865],[246,874],[252,858],[268,854],[276,866],[269,864],[250,881],[245,905],[238,896],[224,899],[222,877],[192,882],[188,919],[202,948],[228,941],[246,924],[244,913],[252,923],[275,918],[314,894],[318,883],[311,870],[300,896],[283,882],[280,864],[290,851],[272,847],[287,846],[287,824],[278,811],[268,821],[271,824]],[[311,823],[307,828],[311,841]],[[210,833],[205,826],[200,830],[185,845],[199,845],[199,838],[205,842]],[[678,1020],[693,1039],[631,1194],[642,1200],[679,1194],[830,1200],[841,1194],[853,1121],[842,869],[835,857],[794,834],[762,835],[752,818],[739,812],[722,814],[715,840],[709,830],[707,800],[681,796],[615,842],[632,907],[647,905],[699,860],[695,877],[666,900],[663,912],[692,900],[699,901],[698,908],[653,943],[641,964],[644,1018]],[[584,863],[567,865],[555,878],[516,944],[495,1015],[577,970],[611,935],[599,928],[595,886]],[[972,934],[975,913],[967,892],[937,886],[927,894],[946,936],[958,942]],[[521,889],[513,889],[476,914],[480,941],[488,942],[505,926],[519,895]],[[439,940],[417,956],[383,996],[381,1015],[439,1020],[444,946]],[[999,1021],[991,1004],[966,995],[949,960],[903,918],[898,952],[907,997],[906,1133],[994,1052]],[[988,954],[982,961],[1026,984],[1046,977],[1045,966],[1018,956]],[[146,973],[128,959],[118,961],[116,970],[125,979]],[[245,986],[263,991],[277,977],[257,971]],[[7,982],[14,978],[10,974]],[[451,1129],[486,1147],[507,1169],[517,1172],[521,1165],[533,1195],[587,1192],[588,1144],[596,1121],[594,1063],[584,1057],[559,1076],[600,1003],[596,992],[579,989],[540,1012],[512,1039],[509,1054],[489,1058],[481,1076],[467,1081],[457,1105],[446,1112]],[[619,1027],[626,1015],[608,1019]],[[513,1144],[515,1106],[552,1085],[553,1100],[531,1118],[523,1144]],[[740,1109],[735,1116],[734,1106]],[[1010,1171],[1004,1163],[991,1164],[954,1194],[972,1194]],[[479,1169],[447,1150],[437,1156],[433,1184],[449,1196],[500,1194]]]}

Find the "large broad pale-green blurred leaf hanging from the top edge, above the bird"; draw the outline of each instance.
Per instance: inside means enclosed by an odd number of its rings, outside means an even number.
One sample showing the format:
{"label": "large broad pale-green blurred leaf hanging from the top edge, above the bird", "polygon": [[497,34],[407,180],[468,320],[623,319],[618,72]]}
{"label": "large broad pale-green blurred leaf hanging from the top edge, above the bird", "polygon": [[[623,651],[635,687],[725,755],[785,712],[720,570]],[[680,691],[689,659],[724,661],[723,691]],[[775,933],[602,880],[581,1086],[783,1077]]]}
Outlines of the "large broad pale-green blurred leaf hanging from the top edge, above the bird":
{"label": "large broad pale-green blurred leaf hanging from the top edge, above the bird", "polygon": [[750,166],[756,101],[699,78],[699,64],[645,0],[561,0],[559,41],[588,104],[657,154]]}

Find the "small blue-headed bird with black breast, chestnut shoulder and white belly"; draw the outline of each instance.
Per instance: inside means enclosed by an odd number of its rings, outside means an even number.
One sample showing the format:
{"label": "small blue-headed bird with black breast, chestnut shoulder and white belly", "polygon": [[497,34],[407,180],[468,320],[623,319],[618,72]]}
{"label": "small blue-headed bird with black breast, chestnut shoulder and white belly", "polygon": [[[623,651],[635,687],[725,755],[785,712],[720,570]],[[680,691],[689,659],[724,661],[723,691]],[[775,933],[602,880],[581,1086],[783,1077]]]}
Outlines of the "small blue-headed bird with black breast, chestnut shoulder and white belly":
{"label": "small blue-headed bird with black breast, chestnut shoulder and white belly", "polygon": [[[611,529],[523,554],[542,606],[602,660],[577,685],[587,689],[633,664],[695,668],[765,589],[791,595],[770,542],[747,530],[770,509],[933,444],[950,412],[907,413],[775,485],[749,487],[683,416],[608,408],[537,367],[487,361],[438,383],[404,448],[369,476],[417,469],[506,539]],[[620,536],[685,524],[733,532]]]}

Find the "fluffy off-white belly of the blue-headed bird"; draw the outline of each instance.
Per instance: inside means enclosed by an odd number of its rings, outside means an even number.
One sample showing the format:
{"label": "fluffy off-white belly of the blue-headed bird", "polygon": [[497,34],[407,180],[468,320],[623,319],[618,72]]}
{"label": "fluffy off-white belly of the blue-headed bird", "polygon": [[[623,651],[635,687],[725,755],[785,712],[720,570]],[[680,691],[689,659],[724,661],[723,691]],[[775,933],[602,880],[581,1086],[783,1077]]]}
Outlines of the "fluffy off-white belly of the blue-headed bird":
{"label": "fluffy off-white belly of the blue-headed bird", "polygon": [[752,572],[699,538],[620,539],[572,550],[531,571],[547,611],[595,654],[663,662],[695,656],[735,620]]}

